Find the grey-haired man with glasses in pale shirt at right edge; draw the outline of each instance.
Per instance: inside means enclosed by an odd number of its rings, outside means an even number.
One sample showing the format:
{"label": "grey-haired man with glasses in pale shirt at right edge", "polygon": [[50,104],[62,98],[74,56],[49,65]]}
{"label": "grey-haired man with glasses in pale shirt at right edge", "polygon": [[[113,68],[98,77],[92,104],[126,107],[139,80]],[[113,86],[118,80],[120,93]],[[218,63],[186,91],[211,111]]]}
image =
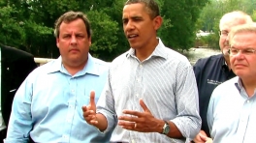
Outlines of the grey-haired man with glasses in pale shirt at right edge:
{"label": "grey-haired man with glasses in pale shirt at right edge", "polygon": [[215,88],[208,104],[208,127],[214,143],[255,143],[256,24],[232,28],[229,55],[238,76]]}

